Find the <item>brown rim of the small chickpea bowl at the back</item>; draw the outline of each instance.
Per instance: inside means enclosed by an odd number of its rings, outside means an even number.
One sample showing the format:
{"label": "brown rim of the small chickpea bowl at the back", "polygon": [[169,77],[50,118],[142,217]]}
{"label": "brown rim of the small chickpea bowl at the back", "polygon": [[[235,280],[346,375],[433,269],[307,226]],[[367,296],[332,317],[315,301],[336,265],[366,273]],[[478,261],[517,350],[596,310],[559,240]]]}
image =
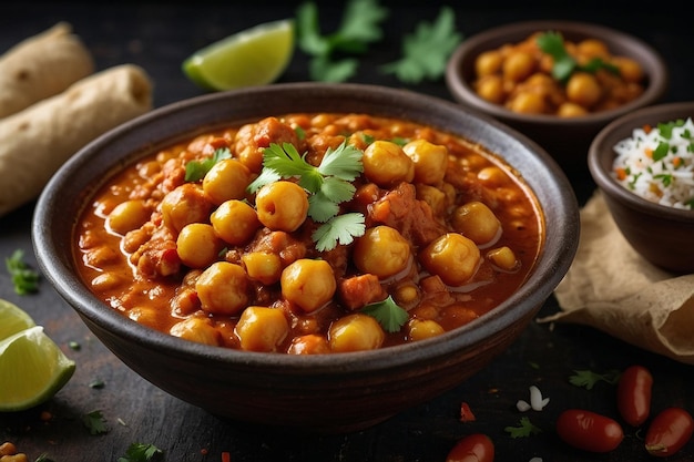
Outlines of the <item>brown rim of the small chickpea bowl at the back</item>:
{"label": "brown rim of the small chickpea bowl at the back", "polygon": [[[502,105],[484,101],[470,86],[468,82],[469,75],[461,75],[462,64],[466,60],[473,59],[481,51],[493,49],[503,43],[522,40],[528,34],[542,30],[555,30],[564,33],[569,39],[601,38],[611,49],[619,48],[620,53],[624,53],[621,49],[631,51],[627,55],[639,60],[647,75],[649,84],[644,93],[636,100],[612,110],[591,113],[580,117],[562,119],[550,114],[518,114]],[[615,44],[619,44],[619,47],[615,47]],[[602,24],[568,20],[513,22],[484,30],[463,40],[451,54],[446,68],[446,83],[450,93],[459,103],[501,120],[545,124],[549,125],[548,130],[576,124],[604,125],[614,117],[630,113],[643,105],[657,102],[667,90],[669,79],[667,65],[662,55],[640,38]]]}

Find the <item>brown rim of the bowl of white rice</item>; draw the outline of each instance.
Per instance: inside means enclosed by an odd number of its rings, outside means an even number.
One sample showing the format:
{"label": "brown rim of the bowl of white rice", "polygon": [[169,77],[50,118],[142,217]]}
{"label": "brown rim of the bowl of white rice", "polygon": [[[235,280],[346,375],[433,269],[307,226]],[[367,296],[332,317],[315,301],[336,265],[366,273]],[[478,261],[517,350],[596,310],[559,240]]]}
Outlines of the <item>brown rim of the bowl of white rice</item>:
{"label": "brown rim of the bowl of white rice", "polygon": [[652,216],[677,222],[694,222],[694,211],[670,207],[641,197],[619,184],[612,176],[612,172],[604,168],[604,157],[610,156],[614,160],[616,153],[613,146],[616,142],[630,137],[633,130],[640,129],[645,123],[655,126],[659,122],[685,119],[686,115],[683,114],[690,114],[688,116],[694,120],[694,101],[643,107],[614,120],[598,133],[588,151],[588,167],[593,181],[604,194],[630,208]]}

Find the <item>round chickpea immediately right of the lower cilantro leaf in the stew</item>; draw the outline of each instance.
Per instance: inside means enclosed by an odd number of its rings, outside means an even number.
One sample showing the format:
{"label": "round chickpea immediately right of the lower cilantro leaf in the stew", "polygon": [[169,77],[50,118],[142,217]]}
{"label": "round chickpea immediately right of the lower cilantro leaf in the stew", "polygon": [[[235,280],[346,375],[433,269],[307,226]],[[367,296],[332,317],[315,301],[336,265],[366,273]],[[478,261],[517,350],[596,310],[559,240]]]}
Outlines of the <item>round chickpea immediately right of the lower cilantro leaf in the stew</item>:
{"label": "round chickpea immediately right of the lower cilantro leaf in the stew", "polygon": [[357,268],[384,279],[405,270],[410,264],[410,244],[395,228],[368,228],[356,239],[353,259]]}

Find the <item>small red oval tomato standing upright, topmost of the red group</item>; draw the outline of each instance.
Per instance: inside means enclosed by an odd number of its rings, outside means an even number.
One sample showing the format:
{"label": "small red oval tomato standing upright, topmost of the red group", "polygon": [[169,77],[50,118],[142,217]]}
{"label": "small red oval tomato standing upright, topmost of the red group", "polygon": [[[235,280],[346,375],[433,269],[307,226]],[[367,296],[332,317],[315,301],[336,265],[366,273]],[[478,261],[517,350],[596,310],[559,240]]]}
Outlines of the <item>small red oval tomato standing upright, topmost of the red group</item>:
{"label": "small red oval tomato standing upright, topmost of the red group", "polygon": [[616,405],[622,419],[639,427],[651,413],[653,376],[642,366],[631,366],[622,372],[616,387]]}

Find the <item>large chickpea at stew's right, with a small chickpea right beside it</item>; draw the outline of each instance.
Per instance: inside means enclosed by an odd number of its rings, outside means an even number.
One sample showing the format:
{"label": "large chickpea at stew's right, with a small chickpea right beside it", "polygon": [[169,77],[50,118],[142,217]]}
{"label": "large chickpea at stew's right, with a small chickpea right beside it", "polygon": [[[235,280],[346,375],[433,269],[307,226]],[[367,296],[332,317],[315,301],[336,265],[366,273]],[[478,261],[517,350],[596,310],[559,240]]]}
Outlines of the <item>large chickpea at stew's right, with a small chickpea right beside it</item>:
{"label": "large chickpea at stew's right, with a small chickpea right beside it", "polygon": [[448,233],[419,253],[421,265],[449,286],[462,286],[469,280],[480,263],[480,250],[461,234]]}

